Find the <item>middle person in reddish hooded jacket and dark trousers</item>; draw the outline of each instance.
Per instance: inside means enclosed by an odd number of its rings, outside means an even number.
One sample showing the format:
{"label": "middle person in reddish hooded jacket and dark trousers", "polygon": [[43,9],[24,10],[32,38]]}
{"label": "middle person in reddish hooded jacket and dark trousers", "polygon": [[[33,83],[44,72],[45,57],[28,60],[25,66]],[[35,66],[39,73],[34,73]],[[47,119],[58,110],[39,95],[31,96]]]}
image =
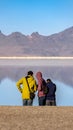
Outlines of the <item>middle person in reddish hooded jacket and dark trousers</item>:
{"label": "middle person in reddish hooded jacket and dark trousers", "polygon": [[36,78],[37,78],[37,81],[38,81],[38,86],[37,86],[37,90],[38,90],[38,101],[39,101],[39,106],[44,106],[45,105],[45,94],[43,92],[43,89],[42,89],[42,84],[43,84],[43,81],[45,81],[42,77],[42,73],[41,72],[37,72],[36,73]]}

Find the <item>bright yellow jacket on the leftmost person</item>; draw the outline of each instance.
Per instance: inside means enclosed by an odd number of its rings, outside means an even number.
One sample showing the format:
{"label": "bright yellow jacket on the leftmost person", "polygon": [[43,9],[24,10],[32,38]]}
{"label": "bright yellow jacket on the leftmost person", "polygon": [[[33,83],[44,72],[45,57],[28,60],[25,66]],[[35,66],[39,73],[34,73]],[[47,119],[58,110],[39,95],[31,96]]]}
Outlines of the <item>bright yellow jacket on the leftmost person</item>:
{"label": "bright yellow jacket on the leftmost person", "polygon": [[[34,79],[33,76],[28,75],[28,84],[30,87],[31,92],[36,92],[37,90],[37,85],[36,85],[36,81]],[[29,88],[27,85],[27,81],[25,77],[22,77],[17,83],[16,86],[18,87],[19,91],[22,93],[22,99],[30,99],[30,92],[29,92]]]}

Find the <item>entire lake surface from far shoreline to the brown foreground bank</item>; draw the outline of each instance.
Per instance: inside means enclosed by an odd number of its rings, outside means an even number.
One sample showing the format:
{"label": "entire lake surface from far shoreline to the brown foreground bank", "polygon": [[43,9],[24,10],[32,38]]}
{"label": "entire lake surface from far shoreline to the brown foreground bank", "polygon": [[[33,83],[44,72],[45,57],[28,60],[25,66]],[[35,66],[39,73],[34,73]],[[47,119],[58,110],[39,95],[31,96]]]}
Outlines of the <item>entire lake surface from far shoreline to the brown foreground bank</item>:
{"label": "entire lake surface from far shoreline to the brown foreground bank", "polygon": [[[73,60],[0,60],[0,105],[22,106],[21,94],[16,81],[28,70],[43,73],[56,86],[57,106],[73,106]],[[38,97],[33,102],[38,106]]]}

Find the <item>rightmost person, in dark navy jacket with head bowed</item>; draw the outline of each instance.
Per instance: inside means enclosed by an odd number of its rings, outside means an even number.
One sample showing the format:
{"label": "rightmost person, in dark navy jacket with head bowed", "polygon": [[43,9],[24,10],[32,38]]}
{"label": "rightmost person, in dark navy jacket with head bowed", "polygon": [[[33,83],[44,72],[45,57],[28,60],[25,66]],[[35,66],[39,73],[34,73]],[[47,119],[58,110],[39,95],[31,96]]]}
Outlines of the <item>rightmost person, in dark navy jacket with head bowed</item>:
{"label": "rightmost person, in dark navy jacket with head bowed", "polygon": [[51,79],[47,79],[47,87],[49,88],[49,91],[46,95],[46,106],[56,106],[56,85]]}

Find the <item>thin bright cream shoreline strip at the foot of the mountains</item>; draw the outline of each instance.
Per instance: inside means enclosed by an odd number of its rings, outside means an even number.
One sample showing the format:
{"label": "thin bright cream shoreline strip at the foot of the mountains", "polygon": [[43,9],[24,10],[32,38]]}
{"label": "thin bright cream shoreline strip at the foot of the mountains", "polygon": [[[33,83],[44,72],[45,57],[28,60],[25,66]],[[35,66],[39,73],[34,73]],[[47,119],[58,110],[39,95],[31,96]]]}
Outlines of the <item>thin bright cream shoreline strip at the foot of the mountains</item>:
{"label": "thin bright cream shoreline strip at the foot of the mountains", "polygon": [[0,60],[4,59],[31,59],[31,60],[71,60],[73,56],[0,56]]}

